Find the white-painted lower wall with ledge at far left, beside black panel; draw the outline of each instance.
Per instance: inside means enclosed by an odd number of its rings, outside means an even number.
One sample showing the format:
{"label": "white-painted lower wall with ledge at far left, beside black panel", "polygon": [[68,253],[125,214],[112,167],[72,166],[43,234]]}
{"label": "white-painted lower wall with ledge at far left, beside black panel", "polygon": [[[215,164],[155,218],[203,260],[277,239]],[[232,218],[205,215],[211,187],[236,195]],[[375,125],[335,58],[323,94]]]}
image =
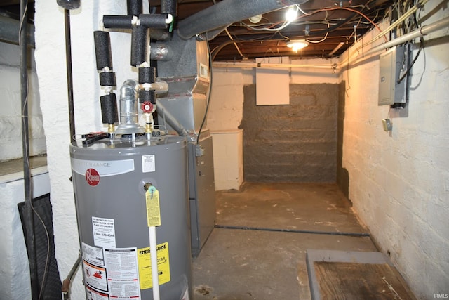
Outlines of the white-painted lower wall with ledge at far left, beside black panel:
{"label": "white-painted lower wall with ledge at far left, beside black panel", "polygon": [[[32,196],[50,193],[46,167],[32,169]],[[0,299],[31,299],[29,263],[17,204],[25,201],[23,172],[0,176]]]}

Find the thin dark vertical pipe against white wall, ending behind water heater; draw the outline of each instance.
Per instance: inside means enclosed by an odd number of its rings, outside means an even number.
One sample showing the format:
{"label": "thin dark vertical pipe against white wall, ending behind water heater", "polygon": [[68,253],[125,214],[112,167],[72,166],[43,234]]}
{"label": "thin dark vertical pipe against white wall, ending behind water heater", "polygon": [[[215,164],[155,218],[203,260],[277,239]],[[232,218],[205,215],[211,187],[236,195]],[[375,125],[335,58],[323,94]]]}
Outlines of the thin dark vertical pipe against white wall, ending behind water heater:
{"label": "thin dark vertical pipe against white wall, ending behind water heater", "polygon": [[65,63],[67,67],[67,96],[69,98],[69,126],[70,142],[75,141],[75,115],[73,104],[73,77],[72,77],[72,42],[70,38],[70,11],[64,10],[65,25]]}

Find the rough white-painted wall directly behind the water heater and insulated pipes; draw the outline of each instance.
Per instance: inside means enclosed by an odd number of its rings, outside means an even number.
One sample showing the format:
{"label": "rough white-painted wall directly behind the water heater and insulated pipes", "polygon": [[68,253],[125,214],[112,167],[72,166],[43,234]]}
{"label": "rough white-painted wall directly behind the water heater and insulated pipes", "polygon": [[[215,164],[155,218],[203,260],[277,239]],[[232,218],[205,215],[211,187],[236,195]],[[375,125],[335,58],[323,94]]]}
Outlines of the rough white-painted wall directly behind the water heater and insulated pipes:
{"label": "rough white-painted wall directly behind the water heater and insulated pipes", "polygon": [[[147,9],[147,3],[144,8]],[[65,70],[64,13],[56,1],[35,1],[36,69],[39,77],[43,127],[46,130],[48,172],[53,204],[55,254],[61,278],[65,278],[79,254],[79,239],[72,183],[69,181],[69,119]],[[95,65],[93,31],[102,15],[126,14],[126,1],[82,1],[72,11],[72,65],[76,133],[106,130],[101,123],[100,85]],[[137,79],[130,67],[130,34],[112,32],[112,60],[119,87]],[[83,299],[81,273],[74,279],[72,299]]]}

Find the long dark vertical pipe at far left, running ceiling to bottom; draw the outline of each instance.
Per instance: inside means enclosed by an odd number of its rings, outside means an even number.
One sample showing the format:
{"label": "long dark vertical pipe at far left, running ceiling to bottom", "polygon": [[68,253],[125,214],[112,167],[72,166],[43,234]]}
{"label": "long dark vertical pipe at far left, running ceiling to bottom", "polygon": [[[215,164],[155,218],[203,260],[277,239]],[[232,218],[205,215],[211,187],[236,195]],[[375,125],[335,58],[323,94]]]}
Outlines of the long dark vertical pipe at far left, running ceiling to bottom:
{"label": "long dark vertical pipe at far left, running ceiling to bottom", "polygon": [[34,239],[34,214],[32,210],[31,170],[29,166],[29,126],[28,126],[28,72],[27,72],[27,12],[28,1],[20,0],[20,98],[22,102],[22,155],[23,181],[25,193],[25,222],[30,230],[27,231],[27,250],[29,274],[31,280],[32,299],[39,296],[39,278],[37,276],[36,240]]}

